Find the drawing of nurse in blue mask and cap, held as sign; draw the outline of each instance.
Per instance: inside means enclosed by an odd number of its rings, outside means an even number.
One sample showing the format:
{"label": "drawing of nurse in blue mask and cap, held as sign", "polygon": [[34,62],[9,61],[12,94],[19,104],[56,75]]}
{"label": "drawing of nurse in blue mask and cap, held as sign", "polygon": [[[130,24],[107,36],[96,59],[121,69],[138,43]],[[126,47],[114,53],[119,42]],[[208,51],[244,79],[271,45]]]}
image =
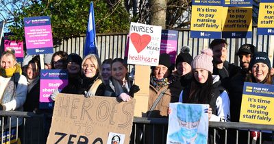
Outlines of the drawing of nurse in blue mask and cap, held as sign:
{"label": "drawing of nurse in blue mask and cap, held as sign", "polygon": [[169,104],[169,129],[166,144],[208,143],[208,104]]}

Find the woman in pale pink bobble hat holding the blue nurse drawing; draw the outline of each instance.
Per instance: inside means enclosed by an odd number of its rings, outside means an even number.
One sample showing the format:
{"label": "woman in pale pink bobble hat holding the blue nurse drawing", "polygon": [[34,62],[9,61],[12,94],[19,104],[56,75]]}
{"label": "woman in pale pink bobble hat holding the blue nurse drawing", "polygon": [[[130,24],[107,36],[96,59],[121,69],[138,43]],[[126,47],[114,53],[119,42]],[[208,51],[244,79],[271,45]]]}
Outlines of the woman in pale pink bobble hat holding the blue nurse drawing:
{"label": "woman in pale pink bobble hat holding the blue nurse drawing", "polygon": [[[179,102],[188,104],[209,104],[206,110],[210,121],[229,121],[230,101],[221,86],[219,75],[212,75],[213,54],[211,49],[204,49],[191,62],[193,78],[179,96]],[[216,134],[216,143],[223,143],[221,135]],[[224,138],[222,138],[224,139]],[[214,130],[209,129],[208,143],[214,143]]]}

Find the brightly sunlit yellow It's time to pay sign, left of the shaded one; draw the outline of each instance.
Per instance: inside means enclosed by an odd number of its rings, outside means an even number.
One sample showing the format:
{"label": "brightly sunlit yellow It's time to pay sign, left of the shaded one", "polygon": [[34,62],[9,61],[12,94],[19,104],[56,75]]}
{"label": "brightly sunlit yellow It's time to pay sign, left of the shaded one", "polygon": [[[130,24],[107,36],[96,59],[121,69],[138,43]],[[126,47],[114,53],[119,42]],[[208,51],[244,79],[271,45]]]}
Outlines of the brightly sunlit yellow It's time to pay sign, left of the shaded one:
{"label": "brightly sunlit yellow It's time to pay sign, left of the shaded one", "polygon": [[221,38],[222,0],[192,0],[191,38]]}

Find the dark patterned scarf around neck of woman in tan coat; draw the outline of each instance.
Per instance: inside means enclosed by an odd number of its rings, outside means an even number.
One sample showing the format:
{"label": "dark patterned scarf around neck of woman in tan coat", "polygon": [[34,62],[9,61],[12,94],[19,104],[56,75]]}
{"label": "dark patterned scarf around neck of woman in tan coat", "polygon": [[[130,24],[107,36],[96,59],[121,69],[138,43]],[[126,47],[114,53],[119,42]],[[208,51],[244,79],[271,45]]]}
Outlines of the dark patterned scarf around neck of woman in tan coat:
{"label": "dark patterned scarf around neck of woman in tan coat", "polygon": [[156,88],[158,91],[169,84],[172,84],[175,82],[175,77],[174,75],[170,75],[169,77],[162,78],[158,80],[154,75],[151,75],[151,85]]}

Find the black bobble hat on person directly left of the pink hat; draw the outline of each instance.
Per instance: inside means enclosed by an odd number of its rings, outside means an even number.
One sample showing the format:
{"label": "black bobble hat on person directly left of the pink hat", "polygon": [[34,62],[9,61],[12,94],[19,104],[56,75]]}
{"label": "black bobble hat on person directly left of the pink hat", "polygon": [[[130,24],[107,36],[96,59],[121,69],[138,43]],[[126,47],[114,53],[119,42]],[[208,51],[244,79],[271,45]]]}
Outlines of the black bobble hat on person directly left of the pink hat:
{"label": "black bobble hat on person directly left of the pink hat", "polygon": [[179,62],[186,62],[188,64],[191,64],[193,58],[189,54],[190,48],[188,46],[184,46],[181,49],[181,53],[176,58],[176,66]]}

